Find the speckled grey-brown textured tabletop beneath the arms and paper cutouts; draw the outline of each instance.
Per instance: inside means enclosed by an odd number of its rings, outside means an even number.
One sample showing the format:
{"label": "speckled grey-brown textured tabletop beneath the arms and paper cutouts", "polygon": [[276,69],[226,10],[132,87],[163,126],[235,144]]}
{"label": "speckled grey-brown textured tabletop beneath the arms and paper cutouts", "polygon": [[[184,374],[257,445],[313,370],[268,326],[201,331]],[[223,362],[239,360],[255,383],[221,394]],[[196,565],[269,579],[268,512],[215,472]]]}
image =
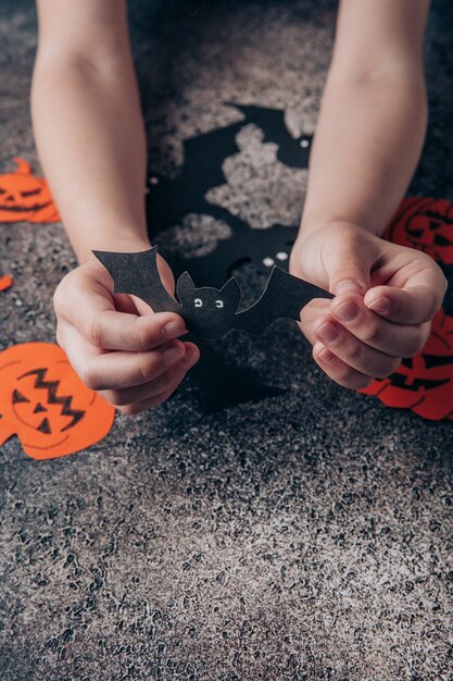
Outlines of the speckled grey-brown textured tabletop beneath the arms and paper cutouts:
{"label": "speckled grey-brown textured tabletop beneath the arms and paper cutouts", "polygon": [[[313,132],[334,18],[327,1],[135,0],[153,168],[174,172],[181,139],[238,119],[226,100],[282,107],[294,134]],[[450,198],[452,20],[435,2],[413,187]],[[0,166],[21,154],[38,170],[30,1],[2,0],[0,46]],[[274,152],[248,127],[216,200],[241,213],[246,188],[252,223],[297,220],[304,171]],[[197,225],[172,238],[198,248]],[[61,226],[0,225],[0,245],[16,280],[0,346],[52,340],[52,290],[74,263]],[[453,424],[338,387],[290,324],[226,350],[292,391],[203,418],[187,384],[88,451],[37,462],[15,438],[1,448],[2,681],[453,678]]]}

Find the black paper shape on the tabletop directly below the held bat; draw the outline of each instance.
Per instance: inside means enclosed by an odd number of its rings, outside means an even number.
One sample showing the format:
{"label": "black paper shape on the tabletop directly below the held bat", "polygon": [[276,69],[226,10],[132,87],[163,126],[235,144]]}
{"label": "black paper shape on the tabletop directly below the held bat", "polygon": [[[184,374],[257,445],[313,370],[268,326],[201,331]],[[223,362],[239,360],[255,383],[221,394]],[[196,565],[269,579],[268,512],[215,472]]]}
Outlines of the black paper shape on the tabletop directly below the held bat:
{"label": "black paper shape on the tabletop directly below the held bat", "polygon": [[203,413],[214,413],[247,401],[278,397],[287,392],[261,383],[254,372],[232,364],[225,359],[223,352],[199,338],[191,337],[191,334],[185,340],[197,343],[200,349],[200,360],[189,371],[189,376],[199,389]]}

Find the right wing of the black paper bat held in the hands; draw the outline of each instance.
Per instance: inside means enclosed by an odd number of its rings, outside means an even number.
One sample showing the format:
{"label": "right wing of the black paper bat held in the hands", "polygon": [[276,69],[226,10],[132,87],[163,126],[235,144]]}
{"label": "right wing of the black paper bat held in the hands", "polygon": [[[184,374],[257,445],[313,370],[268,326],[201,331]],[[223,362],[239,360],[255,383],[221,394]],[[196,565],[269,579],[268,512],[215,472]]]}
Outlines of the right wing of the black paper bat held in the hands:
{"label": "right wing of the black paper bat held in the hands", "polygon": [[301,309],[313,298],[332,297],[324,288],[274,267],[261,298],[237,313],[235,329],[260,334],[276,319],[299,321]]}

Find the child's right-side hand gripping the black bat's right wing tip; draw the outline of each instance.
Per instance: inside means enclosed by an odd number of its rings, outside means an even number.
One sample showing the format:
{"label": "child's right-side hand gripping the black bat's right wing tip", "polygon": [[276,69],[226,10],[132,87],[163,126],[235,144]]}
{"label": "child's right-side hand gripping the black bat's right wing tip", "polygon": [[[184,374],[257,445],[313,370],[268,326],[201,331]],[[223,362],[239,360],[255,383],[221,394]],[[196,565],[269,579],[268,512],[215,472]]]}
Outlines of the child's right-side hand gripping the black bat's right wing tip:
{"label": "child's right-side hand gripping the black bat's right wing tip", "polygon": [[290,271],[336,294],[310,302],[300,325],[317,364],[351,388],[390,375],[423,348],[446,289],[429,256],[348,223],[302,234]]}

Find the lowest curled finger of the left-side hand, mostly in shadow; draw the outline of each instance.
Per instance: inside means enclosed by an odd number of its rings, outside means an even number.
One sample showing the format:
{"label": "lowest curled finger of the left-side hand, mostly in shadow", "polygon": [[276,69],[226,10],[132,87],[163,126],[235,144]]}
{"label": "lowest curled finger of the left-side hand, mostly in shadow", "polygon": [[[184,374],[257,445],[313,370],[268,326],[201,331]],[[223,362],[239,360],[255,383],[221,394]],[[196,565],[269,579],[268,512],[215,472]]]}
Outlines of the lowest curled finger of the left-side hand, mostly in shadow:
{"label": "lowest curled finger of the left-side hand, mostly in shadow", "polygon": [[115,407],[134,405],[135,403],[150,399],[151,397],[166,393],[172,388],[174,389],[175,386],[179,385],[187,371],[196,363],[197,360],[198,354],[192,349],[192,347],[189,346],[186,349],[186,355],[180,361],[149,383],[127,388],[101,391],[101,395],[112,405],[115,405]]}

